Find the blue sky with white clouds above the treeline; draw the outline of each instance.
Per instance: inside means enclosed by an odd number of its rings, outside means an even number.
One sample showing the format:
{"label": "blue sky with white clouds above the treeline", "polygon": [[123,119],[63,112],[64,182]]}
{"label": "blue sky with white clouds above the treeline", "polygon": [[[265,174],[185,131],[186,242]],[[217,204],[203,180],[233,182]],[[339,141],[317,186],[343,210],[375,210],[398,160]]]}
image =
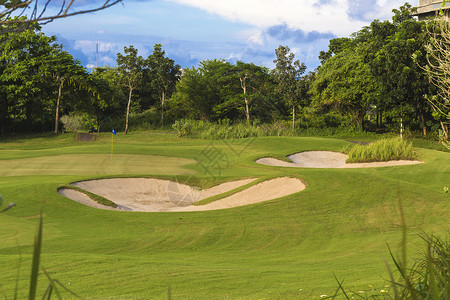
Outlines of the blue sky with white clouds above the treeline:
{"label": "blue sky with white clouds above the treeline", "polygon": [[[54,2],[60,2],[56,0]],[[100,0],[78,0],[87,8]],[[93,4],[94,3],[94,4]],[[123,0],[92,14],[43,26],[86,67],[114,66],[134,45],[146,58],[155,43],[181,67],[205,59],[242,60],[273,67],[275,49],[287,45],[312,71],[328,41],[347,37],[374,19],[391,19],[405,0]],[[411,2],[417,5],[416,0]],[[86,6],[85,6],[86,5]]]}

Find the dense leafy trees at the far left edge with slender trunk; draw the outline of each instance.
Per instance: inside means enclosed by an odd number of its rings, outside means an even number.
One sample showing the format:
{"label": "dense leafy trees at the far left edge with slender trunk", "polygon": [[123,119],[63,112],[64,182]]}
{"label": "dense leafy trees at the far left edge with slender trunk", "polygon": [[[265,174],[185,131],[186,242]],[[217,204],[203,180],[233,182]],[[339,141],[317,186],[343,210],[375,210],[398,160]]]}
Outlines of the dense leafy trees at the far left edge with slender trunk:
{"label": "dense leafy trees at the far left edge with slender trunk", "polygon": [[36,24],[0,38],[0,134],[22,127],[46,128],[51,112],[57,130],[64,83],[74,76],[87,77],[87,72]]}

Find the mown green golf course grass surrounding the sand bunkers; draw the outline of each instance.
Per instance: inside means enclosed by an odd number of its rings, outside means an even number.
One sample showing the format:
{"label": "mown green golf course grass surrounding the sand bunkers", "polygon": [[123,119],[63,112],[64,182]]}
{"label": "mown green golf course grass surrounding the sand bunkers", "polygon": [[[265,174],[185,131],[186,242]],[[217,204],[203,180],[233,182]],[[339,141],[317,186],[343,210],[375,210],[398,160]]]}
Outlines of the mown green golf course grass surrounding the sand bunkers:
{"label": "mown green golf course grass surrounding the sand bunkers", "polygon": [[[450,197],[442,191],[450,179],[449,153],[417,149],[425,163],[411,166],[282,168],[253,161],[306,150],[339,151],[348,143],[301,137],[224,143],[142,132],[115,136],[117,164],[107,167],[106,159],[99,163],[98,157],[110,154],[110,138],[0,143],[0,194],[5,203],[17,204],[0,214],[0,284],[8,298],[14,293],[19,255],[19,299],[28,295],[41,209],[41,265],[87,299],[167,299],[169,285],[173,299],[318,299],[335,292],[333,274],[352,290],[380,287],[388,279],[386,243],[394,254],[400,251],[399,200],[411,256],[422,250],[416,232],[441,234],[449,225]],[[211,146],[228,161],[213,177],[196,163]],[[88,163],[78,167],[80,155]],[[135,159],[133,167],[128,159]],[[27,171],[24,162],[30,160],[35,167]],[[56,161],[74,170],[55,171]],[[184,163],[178,166],[177,161]],[[152,164],[166,165],[166,172]],[[186,213],[99,210],[57,193],[61,185],[79,180],[163,173],[201,187],[248,177],[296,176],[307,188],[245,207]],[[41,272],[38,296],[48,285],[44,276]]]}

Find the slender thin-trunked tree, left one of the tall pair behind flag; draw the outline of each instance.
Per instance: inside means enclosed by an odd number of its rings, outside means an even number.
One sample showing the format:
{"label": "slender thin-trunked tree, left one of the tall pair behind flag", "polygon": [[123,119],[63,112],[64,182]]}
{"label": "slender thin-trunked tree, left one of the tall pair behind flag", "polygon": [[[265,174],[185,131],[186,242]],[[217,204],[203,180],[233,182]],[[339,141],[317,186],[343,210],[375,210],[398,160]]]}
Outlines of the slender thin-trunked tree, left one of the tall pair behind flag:
{"label": "slender thin-trunked tree, left one of the tall pair behind flag", "polygon": [[133,46],[124,47],[126,55],[117,53],[117,70],[121,78],[122,85],[128,89],[128,104],[125,120],[125,134],[128,133],[128,118],[130,115],[131,96],[133,91],[141,85],[142,68],[144,60],[138,56],[138,50]]}

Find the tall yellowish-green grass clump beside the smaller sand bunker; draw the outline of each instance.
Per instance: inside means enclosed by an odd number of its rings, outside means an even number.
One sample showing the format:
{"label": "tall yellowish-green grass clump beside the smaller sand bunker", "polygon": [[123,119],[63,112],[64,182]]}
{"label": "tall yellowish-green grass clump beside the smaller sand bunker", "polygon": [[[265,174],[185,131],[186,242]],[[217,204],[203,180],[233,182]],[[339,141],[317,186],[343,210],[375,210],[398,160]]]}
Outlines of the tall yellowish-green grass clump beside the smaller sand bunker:
{"label": "tall yellowish-green grass clump beside the smaller sand bunker", "polygon": [[355,145],[347,154],[347,163],[417,159],[412,143],[401,138],[383,139],[368,145]]}

